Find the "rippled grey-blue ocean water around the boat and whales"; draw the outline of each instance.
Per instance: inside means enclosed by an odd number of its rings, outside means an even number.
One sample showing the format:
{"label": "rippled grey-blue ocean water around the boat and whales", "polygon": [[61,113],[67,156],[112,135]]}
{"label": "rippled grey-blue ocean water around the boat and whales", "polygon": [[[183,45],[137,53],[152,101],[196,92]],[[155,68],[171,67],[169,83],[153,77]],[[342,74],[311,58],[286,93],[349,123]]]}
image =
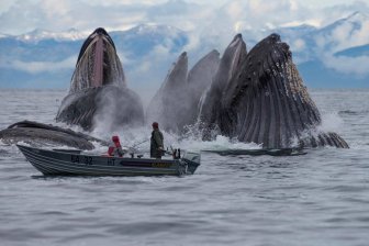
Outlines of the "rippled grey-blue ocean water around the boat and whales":
{"label": "rippled grey-blue ocean water around the boat and whales", "polygon": [[[322,128],[339,133],[350,149],[202,153],[197,172],[185,177],[52,178],[0,144],[0,245],[369,245],[369,90],[310,92]],[[0,128],[54,123],[65,93],[1,90]],[[149,131],[123,139],[138,142]],[[194,150],[255,147],[221,136],[165,137]]]}

